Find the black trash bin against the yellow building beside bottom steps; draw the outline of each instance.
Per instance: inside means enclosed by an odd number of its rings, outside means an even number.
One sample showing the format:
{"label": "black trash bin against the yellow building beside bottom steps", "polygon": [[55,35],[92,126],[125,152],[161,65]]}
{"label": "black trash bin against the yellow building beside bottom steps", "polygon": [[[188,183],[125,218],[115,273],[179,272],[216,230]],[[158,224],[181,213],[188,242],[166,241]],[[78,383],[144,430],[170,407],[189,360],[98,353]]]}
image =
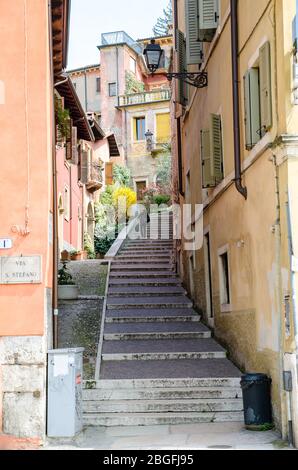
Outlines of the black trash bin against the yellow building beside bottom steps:
{"label": "black trash bin against the yellow building beside bottom steps", "polygon": [[271,379],[265,374],[245,374],[241,379],[244,421],[247,429],[272,428]]}

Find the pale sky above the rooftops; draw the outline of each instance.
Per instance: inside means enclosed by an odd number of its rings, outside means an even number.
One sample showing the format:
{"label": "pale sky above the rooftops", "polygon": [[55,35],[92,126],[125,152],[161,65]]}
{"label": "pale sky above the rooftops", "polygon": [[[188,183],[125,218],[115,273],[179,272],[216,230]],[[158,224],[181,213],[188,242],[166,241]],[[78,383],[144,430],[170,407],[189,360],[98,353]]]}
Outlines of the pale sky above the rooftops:
{"label": "pale sky above the rooftops", "polygon": [[72,0],[68,70],[99,63],[102,33],[126,31],[132,38],[152,36],[168,0]]}

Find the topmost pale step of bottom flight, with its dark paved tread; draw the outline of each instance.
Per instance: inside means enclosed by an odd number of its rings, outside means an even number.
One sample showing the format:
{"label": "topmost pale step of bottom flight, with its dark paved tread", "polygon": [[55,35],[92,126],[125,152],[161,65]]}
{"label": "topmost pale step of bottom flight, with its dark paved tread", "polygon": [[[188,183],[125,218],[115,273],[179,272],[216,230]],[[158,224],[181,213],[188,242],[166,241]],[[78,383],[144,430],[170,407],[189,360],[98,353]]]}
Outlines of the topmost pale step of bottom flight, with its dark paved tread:
{"label": "topmost pale step of bottom flight, with its dark paved tread", "polygon": [[[227,359],[206,360],[198,363],[198,361],[183,361],[183,365],[179,361],[171,361],[166,364],[164,361],[145,362],[140,364],[135,361],[108,363],[108,367],[104,367],[102,378],[96,381],[84,381],[84,393],[97,391],[115,391],[126,390],[193,390],[208,388],[216,389],[240,389],[241,373]],[[133,369],[132,369],[133,366]],[[148,377],[147,372],[153,372],[154,377]],[[129,375],[131,378],[127,378]],[[142,374],[140,374],[142,372]],[[166,372],[165,375],[163,372]],[[119,379],[114,376],[119,373]],[[147,377],[143,377],[143,376]],[[107,376],[112,376],[108,378]]]}

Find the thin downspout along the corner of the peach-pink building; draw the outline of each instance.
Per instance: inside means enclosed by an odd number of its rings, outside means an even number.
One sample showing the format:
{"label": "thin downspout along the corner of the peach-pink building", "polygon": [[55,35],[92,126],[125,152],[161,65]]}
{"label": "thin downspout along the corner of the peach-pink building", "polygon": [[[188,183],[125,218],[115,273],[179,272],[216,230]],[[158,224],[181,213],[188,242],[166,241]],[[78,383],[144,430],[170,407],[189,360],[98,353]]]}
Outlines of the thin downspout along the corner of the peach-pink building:
{"label": "thin downspout along the corner of the peach-pink building", "polygon": [[53,38],[52,38],[52,5],[48,2],[48,28],[49,28],[49,53],[50,76],[52,89],[52,185],[53,185],[53,347],[58,348],[58,200],[57,200],[57,163],[56,163],[56,120],[55,120],[55,95],[54,95],[54,67],[53,67]]}

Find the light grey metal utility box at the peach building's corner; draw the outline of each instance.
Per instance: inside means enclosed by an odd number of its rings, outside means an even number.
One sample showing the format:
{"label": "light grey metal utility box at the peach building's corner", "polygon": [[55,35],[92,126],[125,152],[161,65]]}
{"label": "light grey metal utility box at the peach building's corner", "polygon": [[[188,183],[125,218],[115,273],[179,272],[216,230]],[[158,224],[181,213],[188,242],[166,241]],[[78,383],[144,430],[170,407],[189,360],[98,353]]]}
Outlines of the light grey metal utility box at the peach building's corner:
{"label": "light grey metal utility box at the peach building's corner", "polygon": [[82,431],[83,351],[48,351],[49,437],[73,437]]}

